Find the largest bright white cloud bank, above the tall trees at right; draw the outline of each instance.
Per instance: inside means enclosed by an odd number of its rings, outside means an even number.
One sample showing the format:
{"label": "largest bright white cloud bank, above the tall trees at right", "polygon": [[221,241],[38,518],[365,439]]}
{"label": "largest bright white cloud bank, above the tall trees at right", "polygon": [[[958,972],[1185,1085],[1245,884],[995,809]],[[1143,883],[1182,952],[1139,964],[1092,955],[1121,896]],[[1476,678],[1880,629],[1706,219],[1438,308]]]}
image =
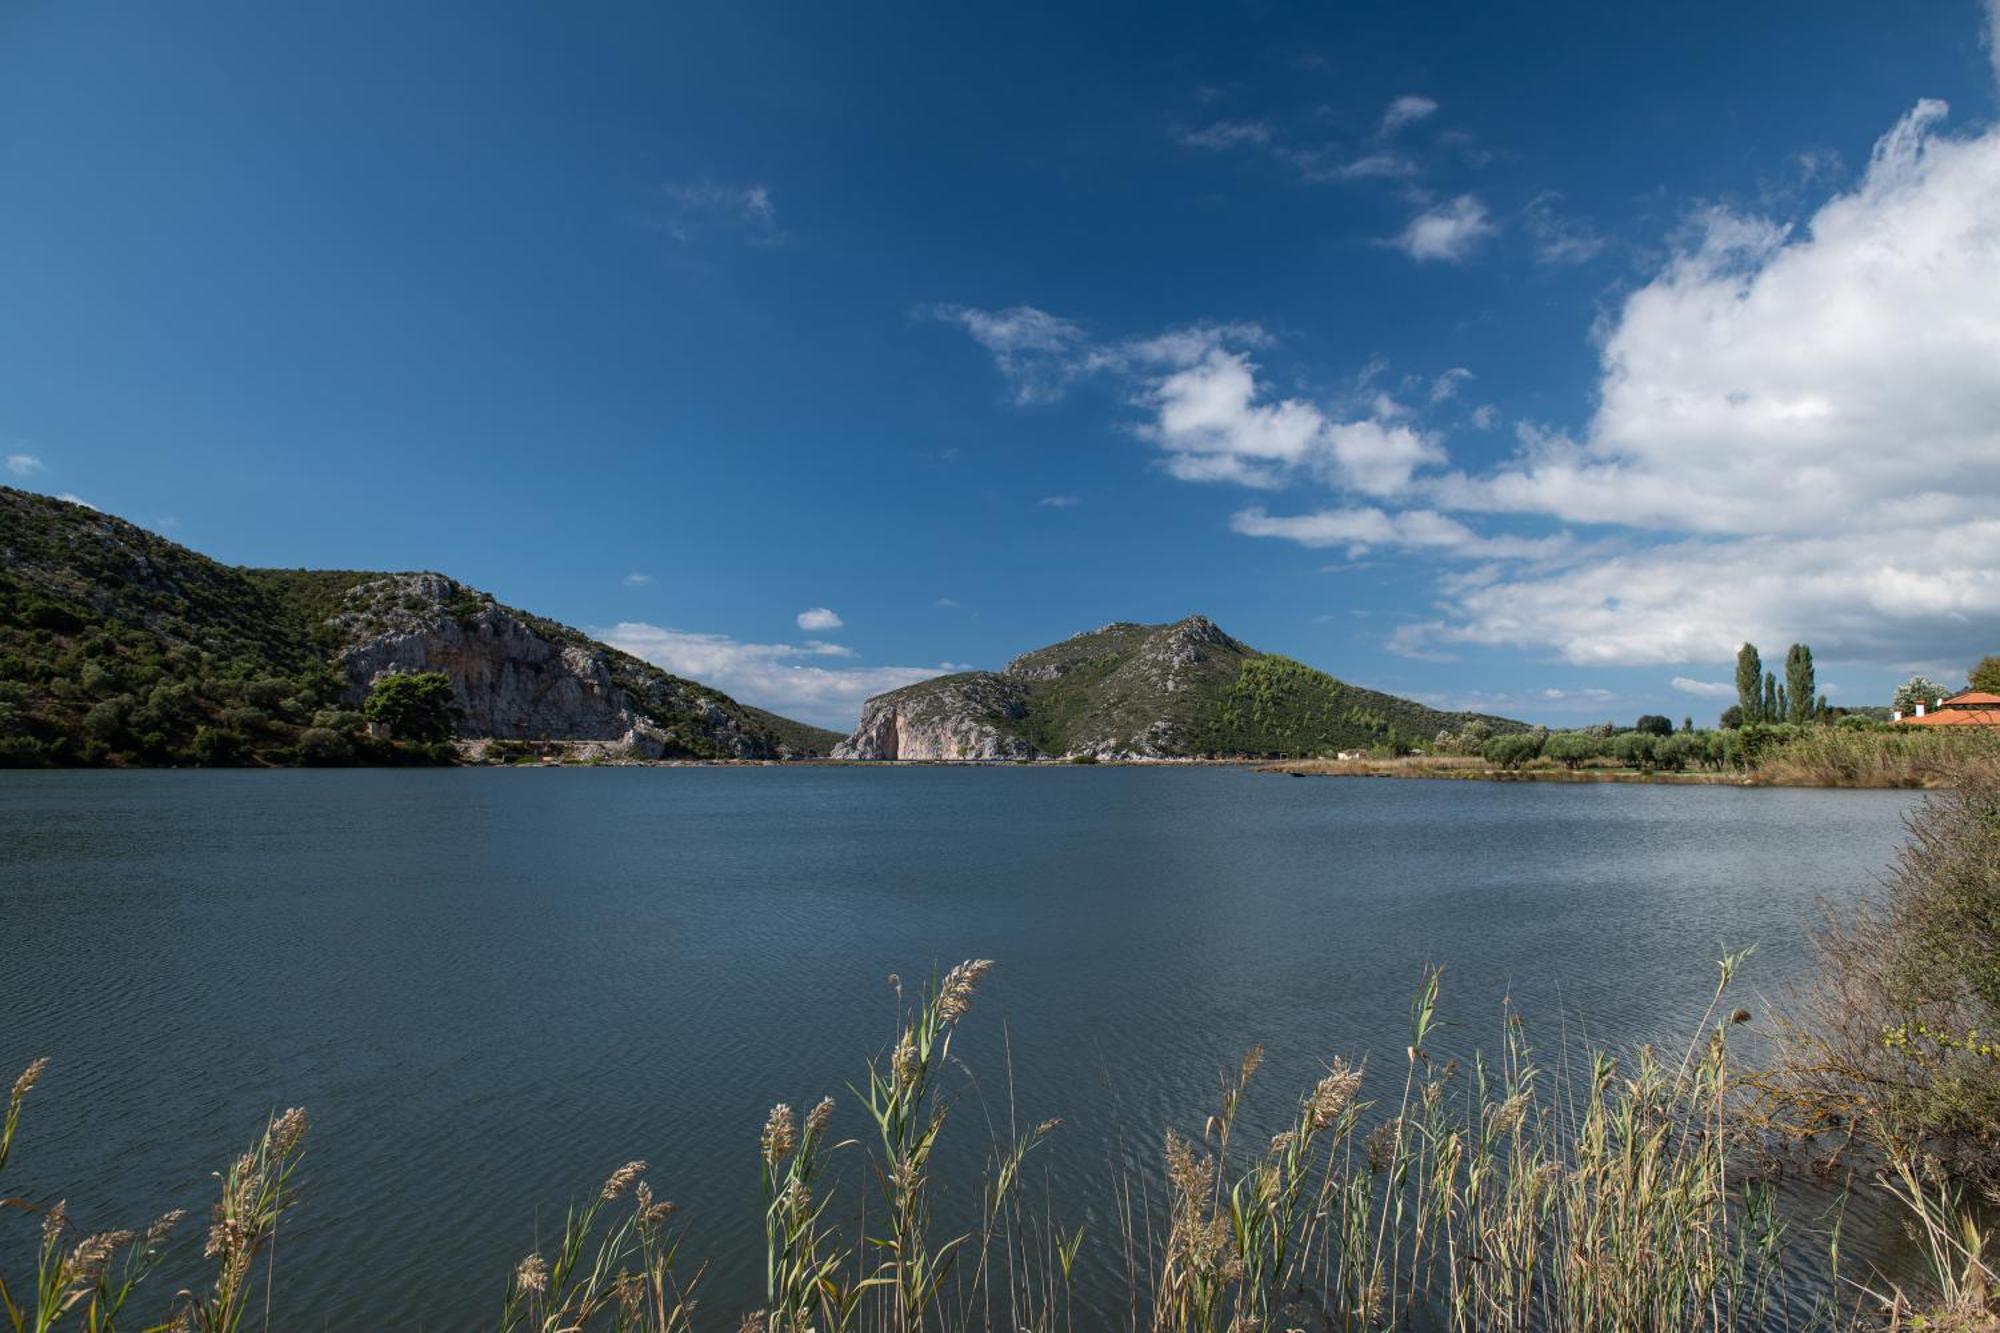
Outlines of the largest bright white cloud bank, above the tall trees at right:
{"label": "largest bright white cloud bank, above the tall trees at right", "polygon": [[1802,226],[1708,212],[1604,336],[1580,438],[1522,432],[1432,504],[1668,536],[1448,598],[1406,644],[1574,662],[1808,640],[1966,656],[2000,618],[2000,130],[1920,102]]}

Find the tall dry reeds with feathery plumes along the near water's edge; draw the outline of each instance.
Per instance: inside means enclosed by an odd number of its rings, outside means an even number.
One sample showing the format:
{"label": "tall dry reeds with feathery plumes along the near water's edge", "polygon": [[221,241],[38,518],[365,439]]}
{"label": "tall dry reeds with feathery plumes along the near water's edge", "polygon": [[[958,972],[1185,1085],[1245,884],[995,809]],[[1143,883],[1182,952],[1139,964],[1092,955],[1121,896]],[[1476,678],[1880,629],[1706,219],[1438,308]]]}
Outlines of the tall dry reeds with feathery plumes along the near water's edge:
{"label": "tall dry reeds with feathery plumes along the near water's edge", "polygon": [[[654,1197],[646,1163],[632,1161],[496,1283],[496,1323],[1056,1333],[1104,1327],[1076,1313],[1074,1287],[1088,1281],[1126,1289],[1132,1333],[1992,1327],[1980,1323],[1996,1313],[1990,1237],[1964,1199],[1908,1163],[1884,1187],[1934,1255],[1934,1291],[1850,1283],[1838,1249],[1820,1251],[1816,1303],[1788,1291],[1786,1261],[1812,1243],[1790,1235],[1772,1189],[1744,1171],[1730,1039],[1748,1013],[1726,999],[1738,963],[1722,961],[1684,1045],[1554,1067],[1536,1059],[1514,1015],[1490,1061],[1438,1059],[1432,973],[1394,1071],[1332,1059],[1282,1129],[1262,1137],[1244,1115],[1260,1067],[1252,1051],[1200,1125],[1160,1127],[1164,1195],[1128,1181],[1106,1211],[1116,1231],[1102,1235],[1066,1227],[1028,1197],[1054,1123],[996,1137],[978,1187],[940,1193],[936,1149],[958,1087],[952,1039],[990,967],[964,963],[908,997],[896,1043],[852,1093],[858,1105],[822,1099],[804,1117],[776,1105],[760,1133],[746,1133],[744,1163],[764,1199],[760,1309],[738,1319],[696,1303],[702,1269],[682,1263],[688,1231]],[[14,1087],[0,1165],[38,1073]],[[840,1137],[844,1123],[852,1137]],[[70,1245],[60,1203],[10,1201],[40,1211],[44,1227],[34,1291],[0,1289],[12,1327],[240,1327],[256,1259],[294,1201],[302,1135],[300,1113],[274,1119],[222,1179],[206,1249],[214,1287],[178,1293],[162,1323],[128,1321],[124,1307],[158,1263],[172,1217],[144,1235]],[[114,1279],[118,1255],[126,1267]],[[1926,1299],[1960,1323],[1922,1323]]]}

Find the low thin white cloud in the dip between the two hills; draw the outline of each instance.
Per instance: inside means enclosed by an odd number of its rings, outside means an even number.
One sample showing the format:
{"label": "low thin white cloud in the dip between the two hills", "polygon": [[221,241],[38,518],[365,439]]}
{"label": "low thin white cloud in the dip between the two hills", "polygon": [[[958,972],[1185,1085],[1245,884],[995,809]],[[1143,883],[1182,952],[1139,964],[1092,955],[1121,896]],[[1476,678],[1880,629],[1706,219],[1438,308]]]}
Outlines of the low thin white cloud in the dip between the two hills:
{"label": "low thin white cloud in the dip between the two hills", "polygon": [[930,677],[962,671],[938,666],[820,666],[814,656],[852,656],[840,644],[742,642],[728,634],[696,634],[660,624],[620,622],[592,636],[646,658],[678,677],[712,685],[724,695],[818,727],[846,731],[862,701]]}

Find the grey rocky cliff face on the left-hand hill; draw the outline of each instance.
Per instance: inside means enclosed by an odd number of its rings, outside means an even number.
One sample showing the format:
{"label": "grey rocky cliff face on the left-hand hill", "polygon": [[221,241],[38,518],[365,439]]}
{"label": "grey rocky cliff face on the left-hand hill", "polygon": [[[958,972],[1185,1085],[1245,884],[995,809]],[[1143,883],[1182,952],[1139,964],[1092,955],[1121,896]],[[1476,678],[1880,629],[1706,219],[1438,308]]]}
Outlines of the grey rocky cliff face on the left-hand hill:
{"label": "grey rocky cliff face on the left-hand hill", "polygon": [[386,675],[440,671],[452,681],[464,737],[594,741],[632,759],[784,751],[726,697],[444,574],[360,582],[328,624],[340,634],[334,662],[354,703]]}

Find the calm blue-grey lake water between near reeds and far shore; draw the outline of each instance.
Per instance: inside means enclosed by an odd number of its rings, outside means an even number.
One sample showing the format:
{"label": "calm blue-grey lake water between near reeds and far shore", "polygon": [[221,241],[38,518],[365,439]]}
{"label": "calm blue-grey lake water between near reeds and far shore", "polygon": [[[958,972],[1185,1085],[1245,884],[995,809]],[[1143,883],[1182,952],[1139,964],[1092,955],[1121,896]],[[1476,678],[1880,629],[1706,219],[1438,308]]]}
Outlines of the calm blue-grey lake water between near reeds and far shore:
{"label": "calm blue-grey lake water between near reeds and far shore", "polygon": [[[538,1209],[646,1157],[734,1327],[764,1111],[852,1101],[890,973],[1000,961],[956,1125],[1004,1121],[1012,1043],[1018,1115],[1064,1119],[1058,1207],[1104,1233],[1106,1181],[1198,1129],[1244,1045],[1272,1115],[1332,1055],[1392,1075],[1426,963],[1444,1047],[1508,991],[1550,1047],[1564,1015],[1674,1037],[1750,943],[1756,1009],[1910,807],[1236,769],[0,775],[0,1085],[54,1057],[8,1193],[202,1215],[208,1173],[304,1105],[280,1327],[458,1329]],[[10,1271],[26,1235],[0,1217]]]}

